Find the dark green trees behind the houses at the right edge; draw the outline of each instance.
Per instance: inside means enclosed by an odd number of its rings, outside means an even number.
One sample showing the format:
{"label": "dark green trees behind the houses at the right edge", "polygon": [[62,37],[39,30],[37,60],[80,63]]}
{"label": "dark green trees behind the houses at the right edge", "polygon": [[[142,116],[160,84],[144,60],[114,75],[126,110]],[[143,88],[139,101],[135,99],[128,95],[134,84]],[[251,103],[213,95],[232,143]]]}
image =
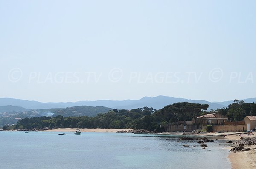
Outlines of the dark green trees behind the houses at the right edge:
{"label": "dark green trees behind the houses at the right edge", "polygon": [[230,121],[242,121],[245,116],[256,116],[256,103],[234,100],[228,107],[217,109],[217,111],[227,116]]}

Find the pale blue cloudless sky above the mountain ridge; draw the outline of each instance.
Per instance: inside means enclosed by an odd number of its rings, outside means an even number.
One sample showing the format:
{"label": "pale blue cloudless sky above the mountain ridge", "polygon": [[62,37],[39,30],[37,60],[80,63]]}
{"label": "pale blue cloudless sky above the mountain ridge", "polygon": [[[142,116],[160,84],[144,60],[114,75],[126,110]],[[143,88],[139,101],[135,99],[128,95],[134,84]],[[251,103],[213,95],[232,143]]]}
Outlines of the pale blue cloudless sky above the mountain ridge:
{"label": "pale blue cloudless sky above the mountain ridge", "polygon": [[256,97],[254,0],[0,1],[0,98]]}

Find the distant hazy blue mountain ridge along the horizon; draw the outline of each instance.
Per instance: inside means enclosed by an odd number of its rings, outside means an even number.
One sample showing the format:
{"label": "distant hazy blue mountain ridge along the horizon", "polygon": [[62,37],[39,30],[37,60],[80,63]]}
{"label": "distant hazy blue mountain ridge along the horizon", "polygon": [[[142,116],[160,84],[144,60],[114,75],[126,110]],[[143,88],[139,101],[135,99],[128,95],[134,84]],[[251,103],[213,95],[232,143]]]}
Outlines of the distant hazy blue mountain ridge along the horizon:
{"label": "distant hazy blue mountain ridge along the horizon", "polygon": [[[245,103],[256,102],[256,98],[241,99]],[[78,101],[78,102],[60,102],[60,103],[42,103],[38,101],[20,100],[13,98],[0,98],[0,106],[20,106],[26,109],[51,109],[51,108],[66,108],[72,106],[105,106],[109,108],[118,109],[137,109],[142,107],[153,107],[154,109],[161,109],[164,106],[177,103],[177,102],[190,102],[190,103],[200,103],[209,104],[210,109],[218,109],[222,107],[227,107],[233,100],[224,102],[209,102],[206,100],[189,100],[185,98],[175,98],[169,96],[157,96],[157,97],[143,97],[139,100],[96,100],[96,101]]]}

